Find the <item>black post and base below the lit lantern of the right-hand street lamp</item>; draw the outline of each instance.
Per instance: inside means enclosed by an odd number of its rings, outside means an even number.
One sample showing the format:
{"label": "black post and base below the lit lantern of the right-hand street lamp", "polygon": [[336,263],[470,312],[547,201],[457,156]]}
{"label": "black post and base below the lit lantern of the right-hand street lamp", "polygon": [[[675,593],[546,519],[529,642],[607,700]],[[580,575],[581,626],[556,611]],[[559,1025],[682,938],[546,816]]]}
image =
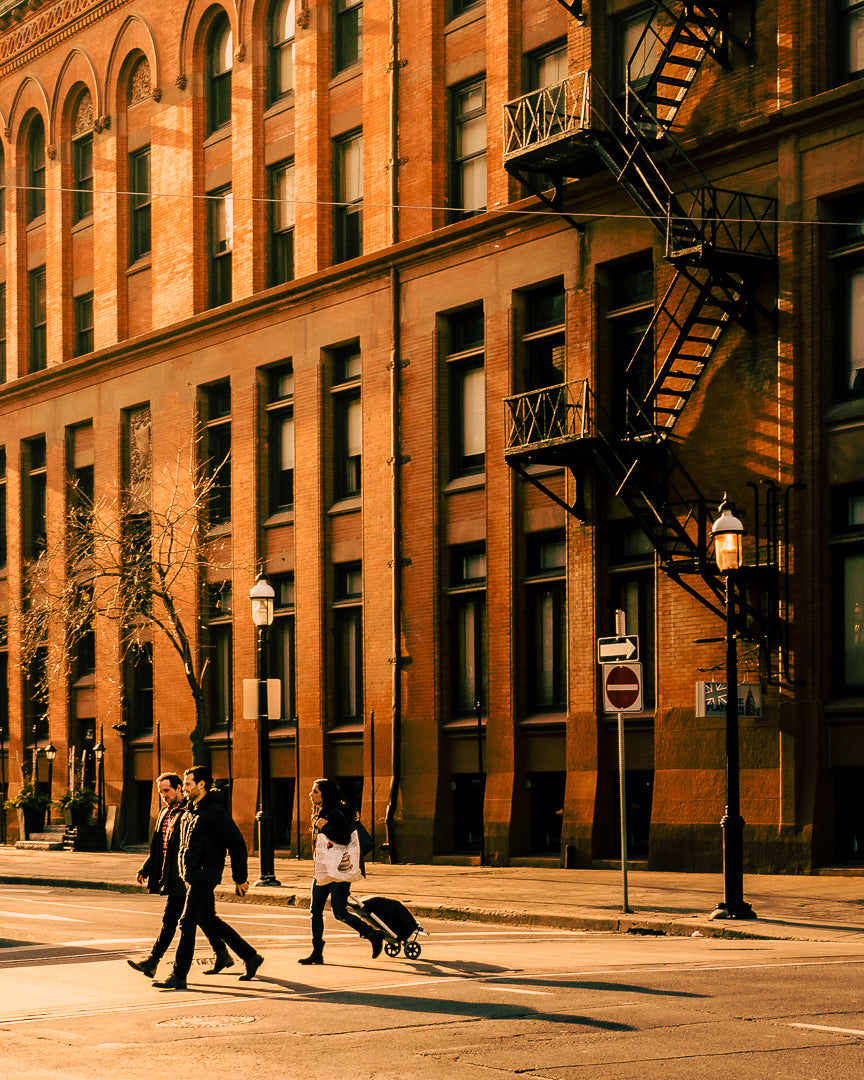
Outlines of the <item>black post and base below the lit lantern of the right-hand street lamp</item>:
{"label": "black post and base below the lit lantern of the right-hand street lamp", "polygon": [[738,643],[735,581],[726,575],[726,813],[723,829],[724,900],[712,919],[755,919],[744,900],[744,819],[741,816],[741,766],[738,741]]}

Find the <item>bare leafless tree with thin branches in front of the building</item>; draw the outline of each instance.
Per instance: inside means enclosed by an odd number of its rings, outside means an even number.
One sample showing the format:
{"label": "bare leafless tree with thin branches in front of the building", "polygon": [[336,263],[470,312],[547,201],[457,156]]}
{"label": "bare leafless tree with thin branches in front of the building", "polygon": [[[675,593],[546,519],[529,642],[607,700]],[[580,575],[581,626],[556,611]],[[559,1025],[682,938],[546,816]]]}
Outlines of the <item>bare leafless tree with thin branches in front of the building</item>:
{"label": "bare leafless tree with thin branches in front of the building", "polygon": [[207,578],[230,577],[234,566],[230,542],[226,552],[207,528],[228,459],[202,464],[199,448],[193,441],[188,457],[179,450],[153,470],[148,419],[133,432],[137,456],[122,490],[94,496],[69,480],[65,528],[25,572],[19,634],[30,693],[43,702],[94,647],[100,620],[119,627],[119,670],[161,635],[183,664],[195,710],[192,753],[205,760],[208,659],[197,629],[205,629]]}

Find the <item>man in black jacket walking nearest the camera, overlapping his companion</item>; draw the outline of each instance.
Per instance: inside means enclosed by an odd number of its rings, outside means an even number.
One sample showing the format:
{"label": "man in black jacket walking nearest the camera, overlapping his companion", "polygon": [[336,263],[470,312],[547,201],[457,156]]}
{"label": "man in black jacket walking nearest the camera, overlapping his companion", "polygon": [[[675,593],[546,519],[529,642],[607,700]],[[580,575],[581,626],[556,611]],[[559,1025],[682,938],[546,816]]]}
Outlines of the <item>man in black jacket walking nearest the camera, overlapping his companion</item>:
{"label": "man in black jacket walking nearest the camera, overlapping his companion", "polygon": [[174,971],[162,982],[165,990],[185,990],[186,977],[192,967],[198,927],[210,937],[214,934],[232,948],[246,966],[240,977],[254,978],[264,963],[247,941],[216,915],[214,893],[222,879],[226,854],[231,858],[231,877],[238,896],[245,896],[249,883],[246,876],[246,841],[231,819],[221,798],[211,792],[213,774],[203,765],[192,766],[184,773],[183,788],[188,799],[180,819],[179,866],[188,891],[180,917],[180,941],[174,958]]}

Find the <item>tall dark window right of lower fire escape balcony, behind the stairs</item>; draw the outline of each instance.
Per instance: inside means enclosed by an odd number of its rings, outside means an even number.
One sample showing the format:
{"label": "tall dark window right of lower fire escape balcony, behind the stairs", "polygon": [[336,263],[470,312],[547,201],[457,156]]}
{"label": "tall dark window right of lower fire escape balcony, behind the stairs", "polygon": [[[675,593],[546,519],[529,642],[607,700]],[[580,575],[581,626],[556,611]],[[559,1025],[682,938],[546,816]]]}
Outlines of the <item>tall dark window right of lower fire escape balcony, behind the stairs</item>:
{"label": "tall dark window right of lower fire escape balcony, behind the stairs", "polygon": [[644,402],[653,380],[653,341],[646,332],[653,318],[653,268],[649,258],[615,266],[609,280],[612,417],[627,434],[644,433],[653,417]]}

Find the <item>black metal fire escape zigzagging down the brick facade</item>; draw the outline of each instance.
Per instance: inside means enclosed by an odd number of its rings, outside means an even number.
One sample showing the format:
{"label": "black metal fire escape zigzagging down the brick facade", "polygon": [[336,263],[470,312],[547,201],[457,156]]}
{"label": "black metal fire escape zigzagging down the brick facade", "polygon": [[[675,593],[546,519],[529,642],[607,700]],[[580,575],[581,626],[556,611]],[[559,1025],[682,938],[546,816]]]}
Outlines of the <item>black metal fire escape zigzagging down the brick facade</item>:
{"label": "black metal fire escape zigzagging down the brick facade", "polygon": [[[624,373],[623,411],[605,410],[588,381],[510,397],[505,459],[532,483],[528,464],[569,468],[579,494],[563,504],[579,516],[581,478],[593,464],[650,539],[663,570],[718,615],[724,584],[707,561],[706,502],[671,435],[726,326],[752,326],[756,286],[777,257],[777,212],[772,199],[714,187],[673,126],[703,63],[727,63],[730,6],[696,0],[672,9],[656,0],[618,98],[583,71],[504,107],[504,165],[512,175],[561,208],[568,180],[608,168],[662,235],[675,270]],[[653,381],[636,393],[627,375],[647,345]],[[691,573],[717,603],[681,577]]]}

